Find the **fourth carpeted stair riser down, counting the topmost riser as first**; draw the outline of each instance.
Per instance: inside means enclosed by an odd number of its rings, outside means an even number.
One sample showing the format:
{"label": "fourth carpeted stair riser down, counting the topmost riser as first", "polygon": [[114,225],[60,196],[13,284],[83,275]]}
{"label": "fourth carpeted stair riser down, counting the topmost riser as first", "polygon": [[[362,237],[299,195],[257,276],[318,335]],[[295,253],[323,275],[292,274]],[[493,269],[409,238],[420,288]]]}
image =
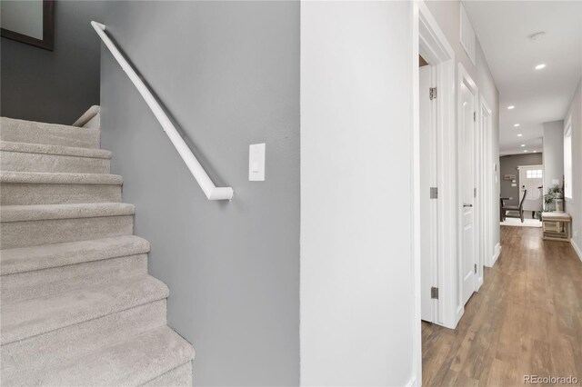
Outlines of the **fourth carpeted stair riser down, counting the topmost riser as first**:
{"label": "fourth carpeted stair riser down, counting the topmost riser as first", "polygon": [[49,243],[88,241],[131,235],[133,232],[133,215],[4,222],[0,224],[0,247],[14,249]]}

